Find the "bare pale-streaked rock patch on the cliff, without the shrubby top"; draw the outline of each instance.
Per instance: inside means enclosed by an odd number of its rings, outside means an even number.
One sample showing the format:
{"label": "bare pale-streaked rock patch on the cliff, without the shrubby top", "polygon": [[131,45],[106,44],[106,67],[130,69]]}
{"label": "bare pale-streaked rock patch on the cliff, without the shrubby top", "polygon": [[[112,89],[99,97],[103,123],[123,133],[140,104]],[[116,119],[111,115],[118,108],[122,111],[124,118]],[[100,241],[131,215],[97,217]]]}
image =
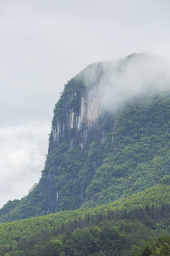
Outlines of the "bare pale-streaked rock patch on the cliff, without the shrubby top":
{"label": "bare pale-streaked rock patch on the cliff, without the shrubby top", "polygon": [[[98,98],[97,88],[85,88],[84,95],[81,95],[79,109],[64,106],[65,117],[57,116],[56,122],[52,124],[52,144],[59,146],[62,142],[68,142],[69,148],[74,143],[81,145],[86,144],[88,130],[95,126],[95,122],[101,113],[101,102]],[[77,100],[77,92],[72,96],[72,100]],[[67,139],[66,139],[67,137]],[[79,138],[79,139],[78,139]]]}

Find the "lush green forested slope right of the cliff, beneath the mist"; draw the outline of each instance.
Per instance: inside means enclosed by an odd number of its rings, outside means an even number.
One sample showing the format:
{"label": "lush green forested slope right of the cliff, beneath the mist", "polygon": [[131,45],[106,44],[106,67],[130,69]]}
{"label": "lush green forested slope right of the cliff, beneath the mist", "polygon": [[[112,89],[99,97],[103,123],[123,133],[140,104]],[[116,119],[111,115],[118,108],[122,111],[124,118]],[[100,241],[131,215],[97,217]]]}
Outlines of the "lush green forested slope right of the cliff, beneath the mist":
{"label": "lush green forested slope right of the cliff, beneath the mist", "polygon": [[169,96],[138,99],[115,115],[104,143],[101,166],[86,188],[98,205],[142,191],[169,174]]}

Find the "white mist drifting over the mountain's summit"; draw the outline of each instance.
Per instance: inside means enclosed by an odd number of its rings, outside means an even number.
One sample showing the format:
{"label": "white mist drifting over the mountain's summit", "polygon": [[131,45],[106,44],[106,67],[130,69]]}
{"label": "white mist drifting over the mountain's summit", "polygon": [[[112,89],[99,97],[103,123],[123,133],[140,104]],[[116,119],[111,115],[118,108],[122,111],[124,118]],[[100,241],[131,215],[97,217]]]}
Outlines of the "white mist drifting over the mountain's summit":
{"label": "white mist drifting over the mountain's summit", "polygon": [[133,53],[127,58],[98,63],[96,69],[91,69],[87,83],[93,76],[97,81],[99,66],[102,75],[98,93],[106,110],[118,110],[134,97],[170,91],[170,64],[157,55]]}

